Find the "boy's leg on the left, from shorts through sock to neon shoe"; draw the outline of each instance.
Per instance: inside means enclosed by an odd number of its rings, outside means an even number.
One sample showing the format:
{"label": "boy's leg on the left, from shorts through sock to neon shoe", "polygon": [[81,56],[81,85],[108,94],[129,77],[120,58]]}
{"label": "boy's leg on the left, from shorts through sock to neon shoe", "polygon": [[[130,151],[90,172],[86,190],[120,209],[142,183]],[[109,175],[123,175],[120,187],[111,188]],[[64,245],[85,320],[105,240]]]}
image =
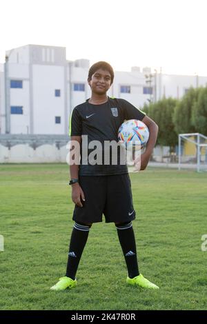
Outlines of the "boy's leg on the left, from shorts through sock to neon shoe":
{"label": "boy's leg on the left, from shorts through sock to neon shoe", "polygon": [[72,219],[76,223],[70,239],[66,276],[52,286],[51,290],[65,290],[77,285],[75,275],[91,224],[102,221],[103,207],[106,204],[106,176],[79,176],[79,183],[86,200],[83,207],[75,205],[73,212]]}

